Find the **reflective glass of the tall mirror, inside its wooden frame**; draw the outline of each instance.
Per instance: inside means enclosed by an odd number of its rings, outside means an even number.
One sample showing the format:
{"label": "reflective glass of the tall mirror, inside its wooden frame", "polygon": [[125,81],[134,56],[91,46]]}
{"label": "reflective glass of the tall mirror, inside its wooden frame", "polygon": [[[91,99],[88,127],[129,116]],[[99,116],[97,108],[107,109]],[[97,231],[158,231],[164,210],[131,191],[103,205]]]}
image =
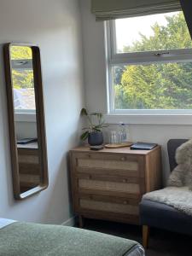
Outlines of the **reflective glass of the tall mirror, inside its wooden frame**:
{"label": "reflective glass of the tall mirror, inside its wooden frame", "polygon": [[[12,86],[15,107],[15,133],[20,172],[20,193],[33,189],[40,183],[40,161],[36,121],[36,102],[32,68],[32,49],[28,46],[10,47]],[[27,113],[33,114],[28,122]],[[20,122],[25,114],[26,120]]]}

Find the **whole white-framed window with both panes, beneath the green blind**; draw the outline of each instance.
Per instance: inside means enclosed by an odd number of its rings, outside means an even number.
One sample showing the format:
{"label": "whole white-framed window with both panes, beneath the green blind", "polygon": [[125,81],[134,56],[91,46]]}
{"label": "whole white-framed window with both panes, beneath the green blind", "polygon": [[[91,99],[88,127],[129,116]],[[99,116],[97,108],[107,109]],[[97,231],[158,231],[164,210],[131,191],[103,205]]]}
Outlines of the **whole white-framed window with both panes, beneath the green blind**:
{"label": "whole white-framed window with both panes, beneath the green blind", "polygon": [[192,40],[183,12],[108,21],[110,113],[192,113]]}

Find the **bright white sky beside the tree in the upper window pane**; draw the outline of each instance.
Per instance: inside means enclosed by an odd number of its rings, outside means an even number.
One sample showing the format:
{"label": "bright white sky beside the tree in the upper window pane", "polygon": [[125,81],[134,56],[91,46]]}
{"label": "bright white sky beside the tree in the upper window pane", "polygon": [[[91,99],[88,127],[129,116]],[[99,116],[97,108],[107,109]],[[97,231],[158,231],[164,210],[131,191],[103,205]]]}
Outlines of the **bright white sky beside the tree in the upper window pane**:
{"label": "bright white sky beside the tree in the upper window pane", "polygon": [[118,52],[122,52],[125,45],[131,45],[132,42],[138,40],[140,38],[139,32],[142,32],[146,36],[153,35],[151,26],[153,26],[155,22],[158,22],[159,25],[166,26],[166,16],[176,15],[177,13],[178,12],[172,12],[116,20]]}

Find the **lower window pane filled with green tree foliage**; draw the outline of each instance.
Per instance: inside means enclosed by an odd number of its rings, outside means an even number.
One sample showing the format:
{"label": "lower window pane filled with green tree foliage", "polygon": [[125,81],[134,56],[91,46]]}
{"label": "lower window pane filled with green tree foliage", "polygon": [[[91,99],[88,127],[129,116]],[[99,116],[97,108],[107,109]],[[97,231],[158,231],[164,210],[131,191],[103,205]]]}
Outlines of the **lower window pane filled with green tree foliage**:
{"label": "lower window pane filled with green tree foliage", "polygon": [[114,108],[192,109],[192,62],[113,67]]}

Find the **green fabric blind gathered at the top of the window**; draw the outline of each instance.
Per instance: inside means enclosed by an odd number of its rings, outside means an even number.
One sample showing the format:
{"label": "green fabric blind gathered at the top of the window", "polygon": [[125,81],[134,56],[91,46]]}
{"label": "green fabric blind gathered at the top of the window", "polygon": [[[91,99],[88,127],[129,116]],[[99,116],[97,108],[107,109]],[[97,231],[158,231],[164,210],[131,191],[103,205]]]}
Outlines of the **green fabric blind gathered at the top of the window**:
{"label": "green fabric blind gathered at the top of the window", "polygon": [[179,0],[91,0],[96,20],[160,14],[181,9]]}

